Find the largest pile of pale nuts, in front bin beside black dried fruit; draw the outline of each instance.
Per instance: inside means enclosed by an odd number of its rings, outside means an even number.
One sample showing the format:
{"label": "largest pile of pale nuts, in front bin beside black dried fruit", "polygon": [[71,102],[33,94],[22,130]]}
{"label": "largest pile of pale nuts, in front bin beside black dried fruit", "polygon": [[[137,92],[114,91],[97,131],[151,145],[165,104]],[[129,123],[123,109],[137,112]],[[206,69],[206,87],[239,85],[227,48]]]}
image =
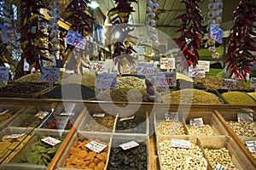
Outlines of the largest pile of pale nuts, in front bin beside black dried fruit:
{"label": "largest pile of pale nuts, in front bin beside black dried fruit", "polygon": [[163,169],[207,169],[207,161],[198,145],[191,143],[190,149],[172,148],[171,140],[163,140],[159,145]]}

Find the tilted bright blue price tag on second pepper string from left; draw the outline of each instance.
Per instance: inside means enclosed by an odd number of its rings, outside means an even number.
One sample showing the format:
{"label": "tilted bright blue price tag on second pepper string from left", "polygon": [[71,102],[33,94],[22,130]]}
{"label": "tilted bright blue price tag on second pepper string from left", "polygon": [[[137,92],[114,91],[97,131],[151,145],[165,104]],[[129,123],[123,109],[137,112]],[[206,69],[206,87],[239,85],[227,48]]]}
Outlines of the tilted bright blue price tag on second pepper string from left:
{"label": "tilted bright blue price tag on second pepper string from left", "polygon": [[84,38],[81,34],[75,32],[75,31],[67,31],[67,36],[65,38],[65,43],[75,46],[76,48],[85,48],[85,44],[87,42],[87,39]]}

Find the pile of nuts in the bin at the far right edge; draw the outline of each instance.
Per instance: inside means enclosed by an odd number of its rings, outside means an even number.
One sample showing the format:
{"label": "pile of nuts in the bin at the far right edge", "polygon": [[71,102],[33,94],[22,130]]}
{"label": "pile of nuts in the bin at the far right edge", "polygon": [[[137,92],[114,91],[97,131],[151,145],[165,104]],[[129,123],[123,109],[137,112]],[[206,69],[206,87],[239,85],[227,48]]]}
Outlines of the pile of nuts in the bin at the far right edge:
{"label": "pile of nuts in the bin at the far right edge", "polygon": [[238,136],[256,136],[256,126],[254,122],[228,122],[230,127],[234,130]]}

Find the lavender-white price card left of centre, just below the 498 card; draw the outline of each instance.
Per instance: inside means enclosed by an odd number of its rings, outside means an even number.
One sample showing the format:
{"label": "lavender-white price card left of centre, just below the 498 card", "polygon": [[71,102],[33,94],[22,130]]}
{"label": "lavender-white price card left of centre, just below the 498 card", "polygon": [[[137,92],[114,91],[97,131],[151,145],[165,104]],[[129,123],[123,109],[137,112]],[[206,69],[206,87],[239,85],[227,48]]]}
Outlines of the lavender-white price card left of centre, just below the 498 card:
{"label": "lavender-white price card left of centre, just below the 498 card", "polygon": [[117,86],[116,73],[103,73],[103,74],[97,75],[96,88],[107,89],[107,88],[116,88],[116,86]]}

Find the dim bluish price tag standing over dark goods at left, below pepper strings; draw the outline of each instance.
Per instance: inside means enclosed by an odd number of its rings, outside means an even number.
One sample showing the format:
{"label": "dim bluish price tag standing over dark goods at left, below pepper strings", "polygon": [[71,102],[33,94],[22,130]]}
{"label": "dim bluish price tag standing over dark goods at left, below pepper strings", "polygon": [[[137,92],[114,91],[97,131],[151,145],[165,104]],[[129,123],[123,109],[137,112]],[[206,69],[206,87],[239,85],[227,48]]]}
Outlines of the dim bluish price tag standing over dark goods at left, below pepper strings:
{"label": "dim bluish price tag standing over dark goods at left, below pepper strings", "polygon": [[60,77],[60,68],[42,67],[41,80],[45,82],[58,82]]}

